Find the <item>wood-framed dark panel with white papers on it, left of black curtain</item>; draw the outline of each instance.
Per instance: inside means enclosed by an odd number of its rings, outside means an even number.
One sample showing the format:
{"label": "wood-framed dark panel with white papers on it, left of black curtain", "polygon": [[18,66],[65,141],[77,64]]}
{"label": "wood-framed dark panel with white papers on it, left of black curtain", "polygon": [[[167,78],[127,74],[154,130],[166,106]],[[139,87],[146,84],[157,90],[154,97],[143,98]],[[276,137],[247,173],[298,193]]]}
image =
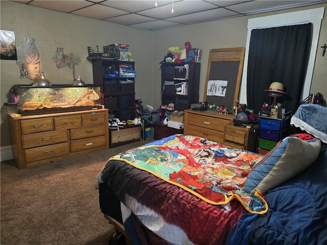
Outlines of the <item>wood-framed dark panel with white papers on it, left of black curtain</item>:
{"label": "wood-framed dark panel with white papers on it, left of black curtain", "polygon": [[203,102],[232,109],[239,98],[245,47],[210,50]]}

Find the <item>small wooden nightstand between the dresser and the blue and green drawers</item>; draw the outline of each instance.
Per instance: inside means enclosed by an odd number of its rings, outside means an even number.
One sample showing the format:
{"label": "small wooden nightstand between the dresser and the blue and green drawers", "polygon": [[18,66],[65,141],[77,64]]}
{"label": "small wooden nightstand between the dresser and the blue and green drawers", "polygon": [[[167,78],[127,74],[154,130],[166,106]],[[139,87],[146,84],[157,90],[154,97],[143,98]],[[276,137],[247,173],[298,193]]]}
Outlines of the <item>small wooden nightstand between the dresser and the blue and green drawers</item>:
{"label": "small wooden nightstand between the dresser and the blue and green drawers", "polygon": [[224,144],[232,148],[244,149],[256,152],[256,142],[258,140],[258,125],[252,128],[243,128],[229,124],[225,126]]}

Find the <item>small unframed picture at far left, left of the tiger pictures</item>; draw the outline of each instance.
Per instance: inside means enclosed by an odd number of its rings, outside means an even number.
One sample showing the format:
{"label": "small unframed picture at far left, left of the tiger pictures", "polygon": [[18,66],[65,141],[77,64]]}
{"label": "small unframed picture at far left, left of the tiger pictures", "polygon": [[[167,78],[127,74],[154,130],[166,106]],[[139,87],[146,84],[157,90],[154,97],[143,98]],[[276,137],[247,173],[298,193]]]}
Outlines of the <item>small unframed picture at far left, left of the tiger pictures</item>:
{"label": "small unframed picture at far left, left of the tiger pictures", "polygon": [[1,59],[17,60],[15,33],[12,31],[0,31]]}

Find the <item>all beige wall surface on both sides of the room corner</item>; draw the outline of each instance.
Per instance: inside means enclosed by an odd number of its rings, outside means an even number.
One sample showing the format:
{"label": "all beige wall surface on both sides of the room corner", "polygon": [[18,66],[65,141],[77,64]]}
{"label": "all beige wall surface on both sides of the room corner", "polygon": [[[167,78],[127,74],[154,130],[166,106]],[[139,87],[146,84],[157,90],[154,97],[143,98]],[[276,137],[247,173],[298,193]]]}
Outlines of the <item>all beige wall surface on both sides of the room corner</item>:
{"label": "all beige wall surface on both sides of the room corner", "polygon": [[[209,50],[212,48],[240,47],[246,45],[247,20],[272,14],[327,7],[327,4],[296,8],[287,11],[276,11],[266,14],[251,15],[211,22],[193,24],[185,27],[161,31],[144,31],[90,19],[72,14],[41,9],[8,1],[1,4],[1,30],[14,31],[17,45],[22,37],[35,37],[41,56],[41,71],[45,72],[53,84],[71,84],[72,75],[69,69],[57,70],[52,56],[57,46],[64,47],[64,53],[77,52],[82,62],[77,67],[86,83],[92,83],[92,66],[86,60],[87,46],[103,46],[111,43],[127,43],[135,61],[137,79],[135,97],[143,99],[155,109],[160,106],[160,65],[159,62],[168,52],[169,46],[183,48],[185,41],[193,47],[202,48],[200,96],[202,101]],[[315,62],[311,92],[322,93],[327,97],[327,54],[322,57],[322,46],[327,42],[326,11],[321,23],[318,51]],[[1,146],[9,145],[7,108],[10,88],[14,84],[29,84],[28,79],[19,79],[18,66],[15,61],[1,60]]]}

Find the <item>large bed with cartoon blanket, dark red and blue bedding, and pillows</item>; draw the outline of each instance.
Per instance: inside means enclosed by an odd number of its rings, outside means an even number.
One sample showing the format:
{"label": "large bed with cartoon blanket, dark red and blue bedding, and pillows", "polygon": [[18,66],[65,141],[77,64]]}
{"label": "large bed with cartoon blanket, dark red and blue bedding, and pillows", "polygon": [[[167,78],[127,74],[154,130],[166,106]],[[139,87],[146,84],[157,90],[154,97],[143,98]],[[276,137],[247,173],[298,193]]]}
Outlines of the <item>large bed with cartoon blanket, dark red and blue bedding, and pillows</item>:
{"label": "large bed with cartoon blanket, dark red and blue bedding, and pillows", "polygon": [[301,105],[291,124],[303,132],[265,156],[181,134],[113,156],[95,182],[101,211],[133,244],[327,244],[316,106]]}

